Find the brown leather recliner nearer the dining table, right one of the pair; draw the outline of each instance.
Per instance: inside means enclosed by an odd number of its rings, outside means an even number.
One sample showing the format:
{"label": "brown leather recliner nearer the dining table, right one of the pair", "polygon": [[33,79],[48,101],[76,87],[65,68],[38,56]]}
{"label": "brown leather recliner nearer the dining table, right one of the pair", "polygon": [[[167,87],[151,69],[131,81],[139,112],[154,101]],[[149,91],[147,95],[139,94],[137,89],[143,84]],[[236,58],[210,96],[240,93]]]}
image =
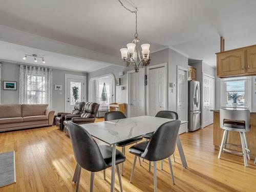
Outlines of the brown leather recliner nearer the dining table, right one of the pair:
{"label": "brown leather recliner nearer the dining table, right one of the pair", "polygon": [[65,121],[63,122],[64,125],[64,132],[65,134],[69,135],[67,122],[72,121],[76,124],[86,124],[86,123],[94,123],[96,114],[99,109],[98,103],[87,102],[84,106],[84,110],[81,115],[66,115]]}

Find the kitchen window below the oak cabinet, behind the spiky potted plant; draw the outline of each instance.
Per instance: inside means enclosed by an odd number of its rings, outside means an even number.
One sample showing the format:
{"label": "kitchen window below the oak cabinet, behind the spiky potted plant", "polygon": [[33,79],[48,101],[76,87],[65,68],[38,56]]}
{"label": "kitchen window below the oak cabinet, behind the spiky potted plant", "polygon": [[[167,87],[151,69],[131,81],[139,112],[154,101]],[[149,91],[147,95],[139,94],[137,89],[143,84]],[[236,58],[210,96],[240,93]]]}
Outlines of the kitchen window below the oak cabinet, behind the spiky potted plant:
{"label": "kitchen window below the oak cabinet, behind the spiky potted plant", "polygon": [[221,105],[233,105],[232,96],[237,96],[238,107],[251,108],[251,77],[225,78],[221,80]]}

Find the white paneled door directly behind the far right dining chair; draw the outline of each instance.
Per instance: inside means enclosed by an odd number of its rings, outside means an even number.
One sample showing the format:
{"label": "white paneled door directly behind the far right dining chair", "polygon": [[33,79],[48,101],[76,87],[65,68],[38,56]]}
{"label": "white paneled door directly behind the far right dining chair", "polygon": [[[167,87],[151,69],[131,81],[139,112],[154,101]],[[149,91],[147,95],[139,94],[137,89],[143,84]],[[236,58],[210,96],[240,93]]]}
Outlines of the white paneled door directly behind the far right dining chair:
{"label": "white paneled door directly behind the far right dining chair", "polygon": [[150,89],[150,116],[155,116],[157,112],[167,110],[166,107],[166,67],[150,69],[148,83]]}

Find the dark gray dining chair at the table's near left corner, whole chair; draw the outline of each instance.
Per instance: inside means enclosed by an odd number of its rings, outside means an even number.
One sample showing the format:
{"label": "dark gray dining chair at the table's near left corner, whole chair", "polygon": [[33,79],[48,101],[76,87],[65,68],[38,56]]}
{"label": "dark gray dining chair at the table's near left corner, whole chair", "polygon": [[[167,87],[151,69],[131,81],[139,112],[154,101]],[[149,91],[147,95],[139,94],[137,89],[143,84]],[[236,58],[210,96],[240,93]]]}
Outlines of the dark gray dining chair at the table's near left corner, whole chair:
{"label": "dark gray dining chair at the table's near left corner, whole chair", "polygon": [[[84,168],[91,172],[90,192],[92,192],[95,172],[105,170],[106,168],[115,165],[117,169],[120,190],[122,191],[122,181],[119,171],[119,164],[125,161],[125,156],[121,152],[116,150],[116,164],[112,165],[113,149],[111,146],[98,146],[92,136],[78,124],[69,121],[67,122],[67,126],[74,151],[75,160],[77,162],[77,168],[74,174],[74,176],[77,175],[77,178],[73,179],[77,182],[76,192],[78,191],[79,187],[81,168]],[[111,183],[111,185],[115,184]]]}

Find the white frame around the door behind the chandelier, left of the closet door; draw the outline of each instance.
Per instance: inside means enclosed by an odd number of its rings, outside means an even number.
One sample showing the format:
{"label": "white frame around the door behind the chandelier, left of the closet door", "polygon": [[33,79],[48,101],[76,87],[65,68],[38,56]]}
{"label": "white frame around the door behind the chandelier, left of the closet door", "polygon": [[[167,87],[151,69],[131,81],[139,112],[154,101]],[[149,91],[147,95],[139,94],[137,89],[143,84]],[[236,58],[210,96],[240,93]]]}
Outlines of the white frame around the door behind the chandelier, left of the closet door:
{"label": "white frame around the door behind the chandelier, left of the closet door", "polygon": [[[145,76],[145,68],[139,69]],[[131,117],[130,105],[131,105],[131,74],[136,73],[134,70],[127,71],[127,117]],[[143,83],[144,84],[144,83]],[[143,89],[143,108],[145,115],[145,86]]]}

